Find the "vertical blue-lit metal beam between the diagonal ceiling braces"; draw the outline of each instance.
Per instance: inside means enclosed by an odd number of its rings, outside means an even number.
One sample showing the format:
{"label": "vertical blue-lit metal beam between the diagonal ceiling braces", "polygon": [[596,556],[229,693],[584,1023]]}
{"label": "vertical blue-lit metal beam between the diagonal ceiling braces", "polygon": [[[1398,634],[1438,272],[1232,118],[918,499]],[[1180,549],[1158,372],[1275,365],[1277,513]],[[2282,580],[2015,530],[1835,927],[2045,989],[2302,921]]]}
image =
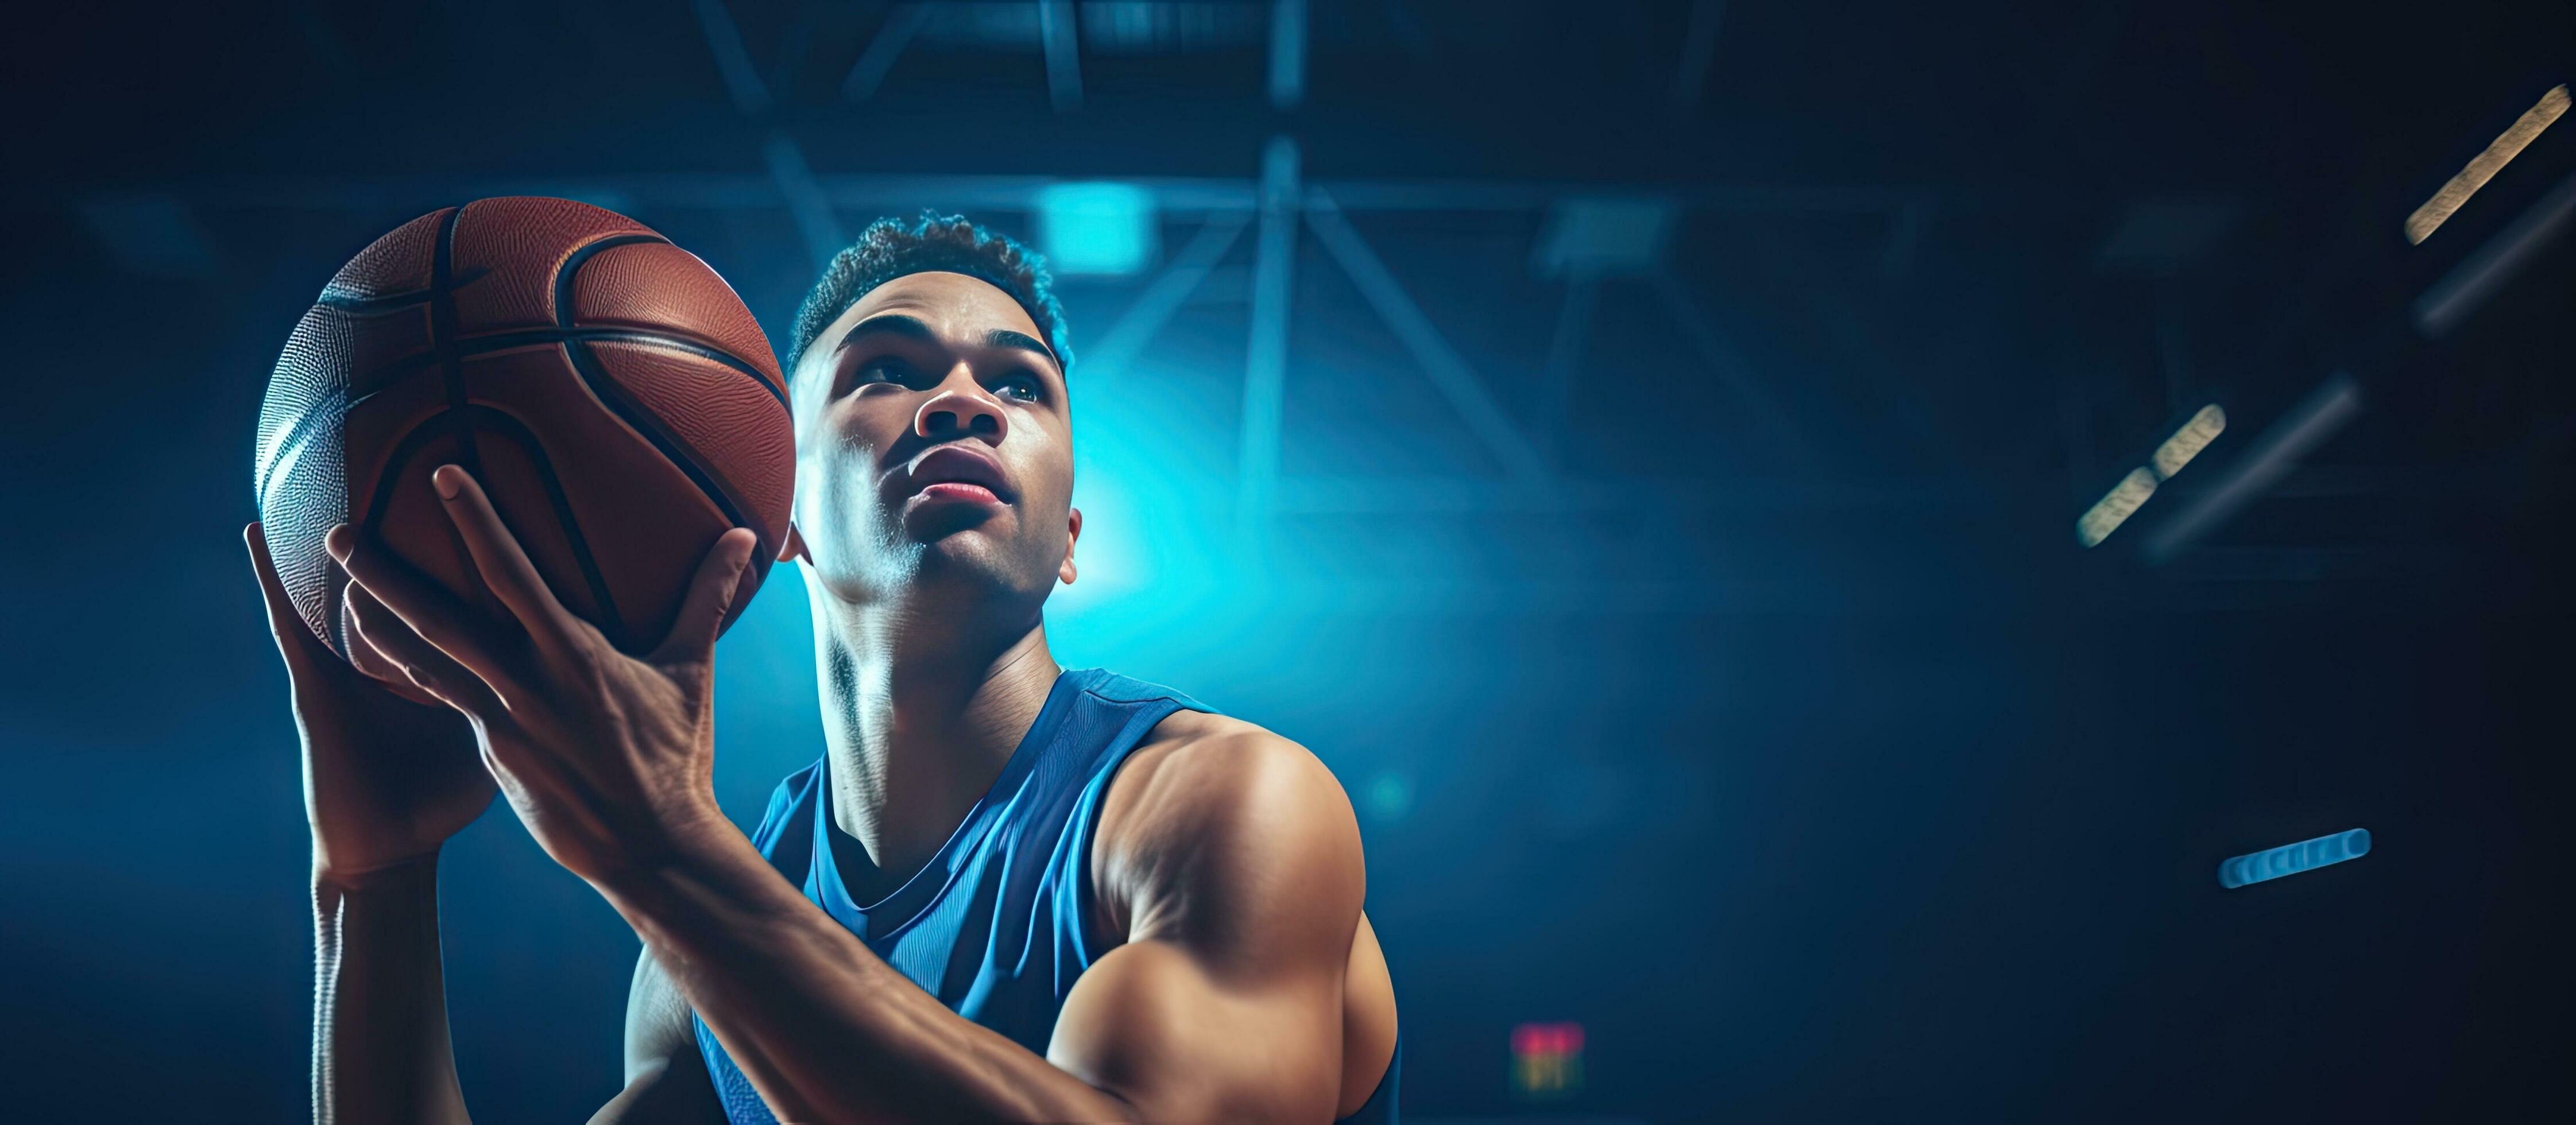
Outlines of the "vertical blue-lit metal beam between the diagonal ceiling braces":
{"label": "vertical blue-lit metal beam between the diagonal ceiling braces", "polygon": [[1244,432],[1236,466],[1236,533],[1257,541],[1270,528],[1280,476],[1280,414],[1288,399],[1288,299],[1296,281],[1296,216],[1301,206],[1298,147],[1273,136],[1262,149],[1262,219],[1252,257],[1252,337],[1244,342]]}

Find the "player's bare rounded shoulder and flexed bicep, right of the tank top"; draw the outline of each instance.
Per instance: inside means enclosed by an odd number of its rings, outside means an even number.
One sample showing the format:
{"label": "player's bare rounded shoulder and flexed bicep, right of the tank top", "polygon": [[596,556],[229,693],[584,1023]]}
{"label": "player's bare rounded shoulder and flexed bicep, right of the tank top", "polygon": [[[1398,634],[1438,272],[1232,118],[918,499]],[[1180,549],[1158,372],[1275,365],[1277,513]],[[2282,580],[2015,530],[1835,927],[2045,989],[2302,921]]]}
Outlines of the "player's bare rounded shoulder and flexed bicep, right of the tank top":
{"label": "player's bare rounded shoulder and flexed bicep, right of the tank top", "polygon": [[1144,1120],[1332,1120],[1365,896],[1340,783],[1257,729],[1128,770],[1100,868],[1126,945],[1074,983],[1048,1061]]}

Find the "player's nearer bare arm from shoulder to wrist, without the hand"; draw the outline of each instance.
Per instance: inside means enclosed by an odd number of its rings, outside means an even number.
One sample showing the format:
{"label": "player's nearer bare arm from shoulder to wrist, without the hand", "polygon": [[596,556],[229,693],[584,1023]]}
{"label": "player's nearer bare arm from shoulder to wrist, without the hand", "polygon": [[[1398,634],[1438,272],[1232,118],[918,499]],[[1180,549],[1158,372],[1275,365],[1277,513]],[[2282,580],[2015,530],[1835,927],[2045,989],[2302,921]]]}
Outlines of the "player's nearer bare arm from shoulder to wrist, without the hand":
{"label": "player's nearer bare arm from shoulder to wrist, without the hand", "polygon": [[1131,940],[1046,1058],[912,986],[739,834],[603,891],[781,1120],[1329,1120],[1363,896],[1340,785],[1249,726],[1128,770],[1095,870]]}

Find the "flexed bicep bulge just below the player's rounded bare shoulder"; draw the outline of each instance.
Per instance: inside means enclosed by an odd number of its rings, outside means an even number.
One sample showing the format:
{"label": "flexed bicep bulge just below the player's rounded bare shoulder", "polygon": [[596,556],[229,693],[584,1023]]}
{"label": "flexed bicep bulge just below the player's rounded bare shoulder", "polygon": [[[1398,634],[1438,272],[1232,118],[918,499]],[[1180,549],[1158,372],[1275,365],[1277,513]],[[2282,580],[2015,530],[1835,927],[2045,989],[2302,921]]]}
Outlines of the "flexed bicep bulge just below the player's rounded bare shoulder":
{"label": "flexed bicep bulge just below the player's rounded bare shoulder", "polygon": [[1340,978],[1247,986],[1208,973],[1182,947],[1128,942],[1074,983],[1046,1061],[1126,1099],[1141,1120],[1332,1120]]}

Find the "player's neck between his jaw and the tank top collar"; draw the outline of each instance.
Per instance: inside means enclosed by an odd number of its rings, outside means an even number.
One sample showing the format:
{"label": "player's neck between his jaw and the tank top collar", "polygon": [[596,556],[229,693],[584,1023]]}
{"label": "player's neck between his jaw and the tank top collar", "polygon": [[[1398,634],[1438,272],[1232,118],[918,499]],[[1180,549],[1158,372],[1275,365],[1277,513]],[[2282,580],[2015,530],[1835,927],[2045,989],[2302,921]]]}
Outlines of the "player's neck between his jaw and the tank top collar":
{"label": "player's neck between his jaw and the tank top collar", "polygon": [[976,626],[922,608],[817,602],[832,824],[876,865],[866,880],[845,873],[860,901],[891,893],[930,862],[1056,685],[1061,669],[1036,613],[1005,628]]}

